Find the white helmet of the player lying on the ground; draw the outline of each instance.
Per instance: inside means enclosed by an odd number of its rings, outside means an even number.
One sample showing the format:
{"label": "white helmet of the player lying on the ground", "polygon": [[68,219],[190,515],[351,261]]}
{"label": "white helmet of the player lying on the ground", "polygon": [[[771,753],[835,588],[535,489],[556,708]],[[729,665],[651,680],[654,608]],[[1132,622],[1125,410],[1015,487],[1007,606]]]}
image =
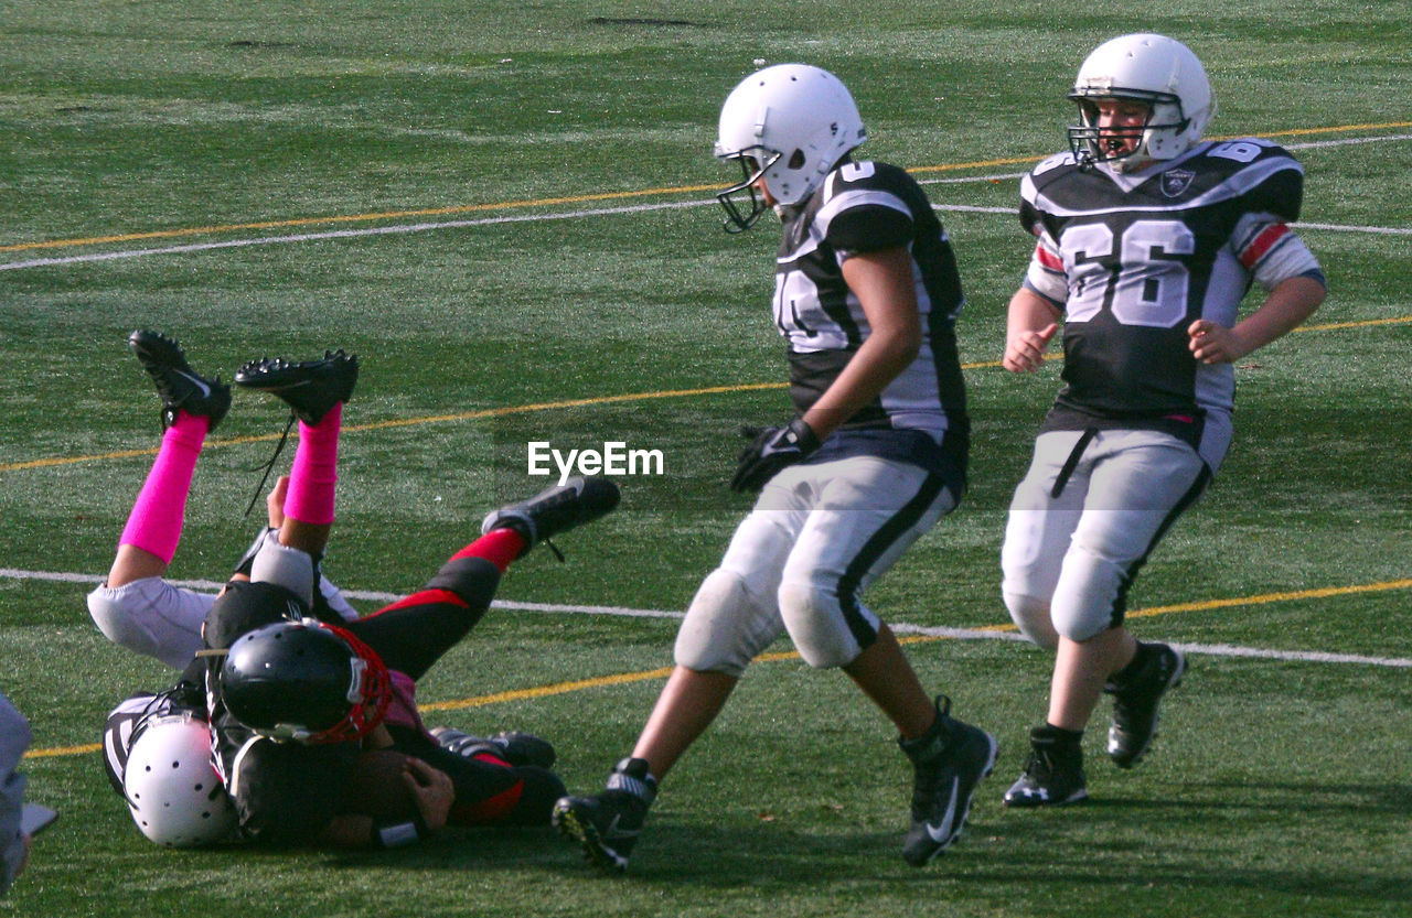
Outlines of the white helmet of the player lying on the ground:
{"label": "white helmet of the player lying on the ground", "polygon": [[195,847],[226,840],[236,808],[210,763],[210,728],[191,715],[147,723],[127,753],[123,791],[150,840]]}

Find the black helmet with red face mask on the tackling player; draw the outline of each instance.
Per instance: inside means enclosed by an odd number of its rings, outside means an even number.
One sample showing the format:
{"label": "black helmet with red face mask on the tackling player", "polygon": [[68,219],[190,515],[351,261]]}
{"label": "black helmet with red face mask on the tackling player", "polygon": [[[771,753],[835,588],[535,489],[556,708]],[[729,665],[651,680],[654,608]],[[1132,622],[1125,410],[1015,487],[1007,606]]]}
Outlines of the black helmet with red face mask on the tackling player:
{"label": "black helmet with red face mask on the tackling player", "polygon": [[308,618],[237,639],[219,685],[236,721],[261,736],[308,745],[367,736],[393,698],[391,677],[371,647]]}

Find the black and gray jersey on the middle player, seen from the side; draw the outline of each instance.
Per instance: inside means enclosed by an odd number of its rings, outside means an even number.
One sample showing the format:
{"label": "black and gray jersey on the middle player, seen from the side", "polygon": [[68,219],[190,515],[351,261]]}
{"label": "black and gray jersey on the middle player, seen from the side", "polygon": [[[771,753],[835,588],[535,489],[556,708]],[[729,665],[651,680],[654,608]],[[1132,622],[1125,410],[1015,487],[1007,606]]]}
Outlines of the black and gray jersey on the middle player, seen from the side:
{"label": "black and gray jersey on the middle player, seen from the side", "polygon": [[843,262],[898,247],[912,254],[922,350],[840,432],[901,432],[907,434],[901,440],[914,441],[923,434],[933,447],[953,433],[960,446],[969,422],[956,351],[955,322],[963,306],[956,257],[926,193],[898,166],[844,162],[803,206],[786,212],[774,317],[789,345],[791,396],[795,409],[806,412],[868,338],[868,320],[843,279]]}

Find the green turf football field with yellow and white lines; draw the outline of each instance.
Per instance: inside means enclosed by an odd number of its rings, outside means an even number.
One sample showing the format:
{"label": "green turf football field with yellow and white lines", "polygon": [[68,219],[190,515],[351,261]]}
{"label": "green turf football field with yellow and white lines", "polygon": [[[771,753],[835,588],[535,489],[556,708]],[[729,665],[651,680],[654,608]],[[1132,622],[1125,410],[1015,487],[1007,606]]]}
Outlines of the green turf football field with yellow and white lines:
{"label": "green turf football field with yellow and white lines", "polygon": [[[1062,365],[998,365],[1034,244],[1019,176],[1065,147],[1087,51],[1131,31],[1203,58],[1210,137],[1305,165],[1298,228],[1330,296],[1240,361],[1230,458],[1132,588],[1138,639],[1192,664],[1152,753],[1108,763],[1106,701],[1091,800],[1010,811],[1051,659],[1010,623],[1000,543]],[[726,488],[737,427],[791,413],[778,224],[722,231],[713,193],[738,173],[710,154],[736,82],[794,61],[849,85],[861,155],[923,183],[966,286],[970,491],[867,595],[1000,740],[964,838],[902,862],[894,732],[781,640],[664,783],[624,877],[548,831],[377,855],[145,842],[97,740],[174,673],[109,643],[83,599],[161,432],[127,334],[164,330],[227,381],[253,357],[359,354],[325,570],[361,609],[552,484],[535,454],[614,458],[618,512],[559,539],[562,563],[517,563],[418,690],[428,723],[545,736],[596,791],[750,506]],[[34,732],[28,798],[61,814],[0,915],[1412,914],[1404,0],[0,0],[0,690]],[[172,578],[223,581],[284,420],[236,393]]]}

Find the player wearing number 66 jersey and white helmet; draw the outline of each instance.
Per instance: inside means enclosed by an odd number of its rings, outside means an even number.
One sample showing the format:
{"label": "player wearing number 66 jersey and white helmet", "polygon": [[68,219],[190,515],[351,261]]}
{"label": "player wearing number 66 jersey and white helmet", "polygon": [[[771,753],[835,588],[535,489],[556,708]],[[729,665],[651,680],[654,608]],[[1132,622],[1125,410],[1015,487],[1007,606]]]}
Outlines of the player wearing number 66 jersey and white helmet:
{"label": "player wearing number 66 jersey and white helmet", "polygon": [[[1100,45],[1069,93],[1069,152],[1021,183],[1038,237],[1010,302],[1004,367],[1032,372],[1063,327],[1063,388],[1015,489],[1001,553],[1011,618],[1055,651],[1012,807],[1087,797],[1080,739],[1113,695],[1108,756],[1147,753],[1182,653],[1124,626],[1132,581],[1206,489],[1231,441],[1231,364],[1323,302],[1291,228],[1303,169],[1275,144],[1203,141],[1216,109],[1202,62],[1152,34]],[[1251,285],[1264,302],[1244,319]]]}

